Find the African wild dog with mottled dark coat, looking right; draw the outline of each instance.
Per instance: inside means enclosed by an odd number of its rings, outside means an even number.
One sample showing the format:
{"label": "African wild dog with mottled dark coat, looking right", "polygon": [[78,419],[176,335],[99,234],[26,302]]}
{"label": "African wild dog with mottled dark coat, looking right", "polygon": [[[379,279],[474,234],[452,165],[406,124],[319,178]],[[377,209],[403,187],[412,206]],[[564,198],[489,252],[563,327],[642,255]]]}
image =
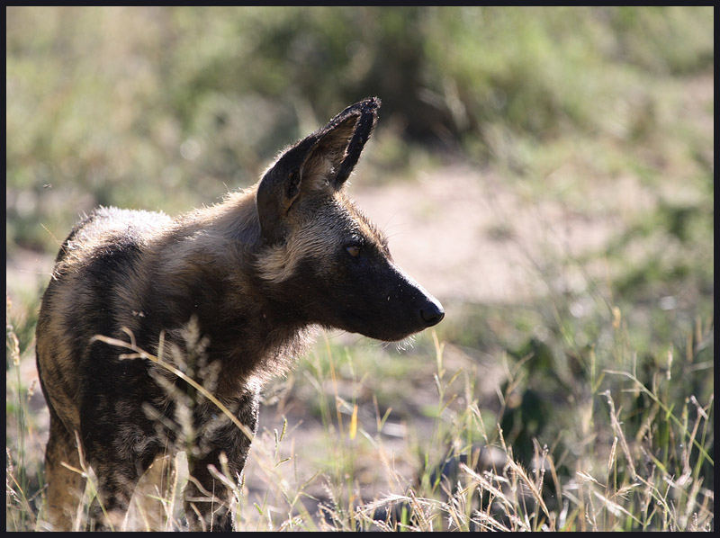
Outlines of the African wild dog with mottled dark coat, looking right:
{"label": "African wild dog with mottled dark coat, looking right", "polygon": [[[186,327],[194,324],[205,364],[217,366],[212,393],[254,433],[260,387],[290,364],[307,327],[400,340],[443,318],[342,190],[379,106],[376,98],[349,106],[284,151],[256,185],[217,205],[176,219],[101,208],[72,230],[37,328],[51,525],[72,525],[85,482],[63,462],[78,468],[80,452],[99,489],[91,527],[118,528],[139,476],[175,443],[178,404],[167,386],[193,395],[184,381],[158,377],[155,363],[121,358],[127,350],[95,335],[127,341],[126,327],[149,353],[162,341],[189,354]],[[224,453],[237,478],[251,440],[195,399],[185,515],[191,529],[229,529],[229,489],[208,466],[220,470]]]}

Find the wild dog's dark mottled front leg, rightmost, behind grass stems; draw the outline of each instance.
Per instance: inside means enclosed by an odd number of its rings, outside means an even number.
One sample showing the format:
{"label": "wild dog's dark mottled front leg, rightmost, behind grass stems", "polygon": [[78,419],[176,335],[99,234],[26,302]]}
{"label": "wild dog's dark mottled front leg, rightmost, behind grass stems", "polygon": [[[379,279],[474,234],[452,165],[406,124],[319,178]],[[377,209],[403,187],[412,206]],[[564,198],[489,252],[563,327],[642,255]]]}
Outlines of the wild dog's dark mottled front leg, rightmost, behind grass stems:
{"label": "wild dog's dark mottled front leg, rightmost, behind grass stems", "polygon": [[[233,492],[216,478],[216,473],[209,466],[225,475],[232,484],[237,484],[252,442],[247,434],[255,435],[257,430],[258,407],[259,395],[256,393],[247,393],[230,407],[240,423],[247,427],[247,433],[242,432],[228,417],[223,417],[218,410],[211,423],[203,428],[205,431],[195,447],[196,453],[188,454],[191,478],[185,488],[184,498],[185,516],[191,531],[232,530]],[[221,453],[228,459],[229,473],[223,471]]]}

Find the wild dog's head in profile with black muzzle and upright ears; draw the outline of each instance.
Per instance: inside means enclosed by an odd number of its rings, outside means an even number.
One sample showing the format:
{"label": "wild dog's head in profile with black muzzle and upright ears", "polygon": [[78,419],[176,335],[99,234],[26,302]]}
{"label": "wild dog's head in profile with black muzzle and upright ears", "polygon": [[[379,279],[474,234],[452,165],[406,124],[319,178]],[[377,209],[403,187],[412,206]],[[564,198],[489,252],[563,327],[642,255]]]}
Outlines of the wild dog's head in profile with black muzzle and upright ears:
{"label": "wild dog's head in profile with black muzzle and upright ears", "polygon": [[261,278],[293,316],[380,340],[440,322],[439,301],[392,262],[387,240],[343,193],[380,100],[347,107],[279,157],[257,190]]}

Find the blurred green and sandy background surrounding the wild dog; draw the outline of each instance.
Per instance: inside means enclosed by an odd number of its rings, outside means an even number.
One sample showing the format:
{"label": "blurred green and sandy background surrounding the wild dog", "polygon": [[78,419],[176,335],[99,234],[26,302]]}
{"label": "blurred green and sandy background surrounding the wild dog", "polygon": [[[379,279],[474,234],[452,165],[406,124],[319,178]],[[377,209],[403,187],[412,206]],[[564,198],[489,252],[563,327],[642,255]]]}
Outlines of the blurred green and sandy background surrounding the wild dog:
{"label": "blurred green and sandy background surrounding the wild dog", "polygon": [[[713,69],[709,6],[8,7],[8,522],[42,513],[34,328],[78,217],[219,202],[371,95],[380,121],[349,193],[448,315],[402,350],[320,335],[267,388],[257,445],[272,453],[274,428],[296,426],[296,483],[336,515],[428,487],[437,462],[500,431],[524,465],[546,445],[572,483],[615,453],[611,394],[647,480],[689,466],[682,490],[710,498],[711,460],[681,447],[712,410]],[[343,430],[351,417],[365,439]],[[248,504],[275,503],[260,519],[277,528],[297,507],[254,472]]]}

